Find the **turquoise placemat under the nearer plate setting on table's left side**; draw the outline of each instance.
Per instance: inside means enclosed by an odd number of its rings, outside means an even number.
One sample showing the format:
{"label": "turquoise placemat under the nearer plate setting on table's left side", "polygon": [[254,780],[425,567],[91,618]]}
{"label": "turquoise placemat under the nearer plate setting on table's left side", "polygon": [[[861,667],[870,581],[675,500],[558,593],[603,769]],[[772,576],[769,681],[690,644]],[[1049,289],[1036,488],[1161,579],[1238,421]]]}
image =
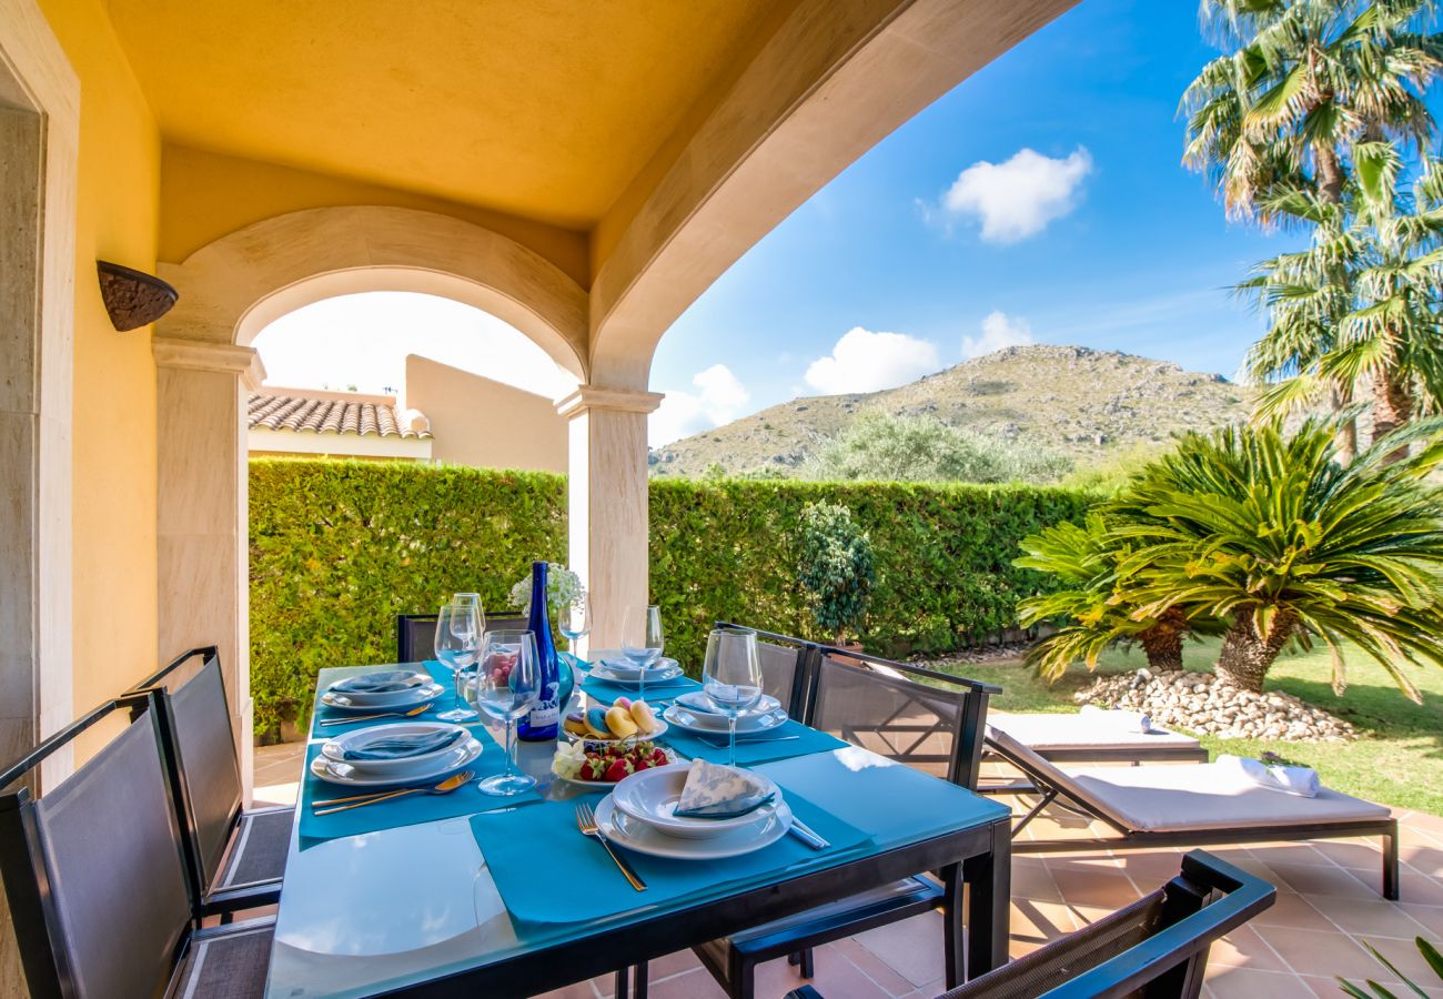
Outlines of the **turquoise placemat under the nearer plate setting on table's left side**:
{"label": "turquoise placemat under the nearer plate setting on table's left side", "polygon": [[[472,733],[481,741],[483,751],[481,758],[468,764],[481,780],[499,774],[506,765],[505,749],[502,749],[482,725],[469,726]],[[460,787],[450,794],[408,794],[394,801],[381,801],[364,808],[348,808],[329,816],[317,816],[310,807],[312,801],[326,798],[343,798],[352,794],[365,794],[367,788],[346,788],[339,784],[322,781],[310,772],[310,762],[320,754],[322,742],[313,743],[306,752],[306,772],[300,785],[300,834],[312,840],[336,839],[338,836],[359,836],[374,833],[380,829],[394,829],[395,826],[414,826],[423,821],[439,819],[455,819],[469,816],[476,811],[489,811],[525,801],[540,801],[535,791],[518,794],[511,798],[499,798],[482,794],[476,790],[475,780],[466,787]],[[404,781],[405,785],[426,784],[434,787],[444,777],[434,777],[426,781]]]}

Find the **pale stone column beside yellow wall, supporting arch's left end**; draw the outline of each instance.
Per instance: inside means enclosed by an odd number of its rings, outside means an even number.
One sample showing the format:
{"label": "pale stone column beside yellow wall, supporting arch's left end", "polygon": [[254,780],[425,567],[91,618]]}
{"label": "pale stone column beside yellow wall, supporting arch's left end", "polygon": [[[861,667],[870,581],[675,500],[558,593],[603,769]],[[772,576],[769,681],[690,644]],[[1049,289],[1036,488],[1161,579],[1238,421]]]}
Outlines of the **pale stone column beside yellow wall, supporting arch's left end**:
{"label": "pale stone column beside yellow wall, supporting arch's left end", "polygon": [[154,338],[159,378],[160,660],[221,650],[251,798],[245,403],[266,371],[250,346]]}

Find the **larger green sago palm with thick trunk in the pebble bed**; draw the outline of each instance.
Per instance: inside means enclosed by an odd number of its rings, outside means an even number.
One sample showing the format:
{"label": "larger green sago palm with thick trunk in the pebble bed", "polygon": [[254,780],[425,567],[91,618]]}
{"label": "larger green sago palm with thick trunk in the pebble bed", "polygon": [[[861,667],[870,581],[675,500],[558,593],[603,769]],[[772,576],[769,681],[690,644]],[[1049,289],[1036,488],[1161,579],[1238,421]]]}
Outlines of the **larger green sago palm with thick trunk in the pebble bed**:
{"label": "larger green sago palm with thick trunk in the pebble bed", "polygon": [[1118,575],[1136,580],[1134,619],[1225,622],[1216,668],[1244,690],[1261,692],[1289,641],[1316,638],[1335,689],[1351,642],[1418,700],[1401,661],[1443,666],[1443,497],[1423,481],[1443,463],[1439,432],[1443,417],[1416,422],[1346,468],[1329,420],[1183,436],[1108,511],[1133,546]]}

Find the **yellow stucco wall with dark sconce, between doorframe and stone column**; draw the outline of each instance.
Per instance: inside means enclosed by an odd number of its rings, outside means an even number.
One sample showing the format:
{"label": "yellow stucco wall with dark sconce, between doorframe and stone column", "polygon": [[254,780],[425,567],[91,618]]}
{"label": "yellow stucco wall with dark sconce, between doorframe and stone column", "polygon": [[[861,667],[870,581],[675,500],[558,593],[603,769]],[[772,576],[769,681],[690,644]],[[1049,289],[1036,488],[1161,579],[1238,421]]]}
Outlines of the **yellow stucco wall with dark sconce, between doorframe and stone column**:
{"label": "yellow stucco wall with dark sconce, between doorframe and stone column", "polygon": [[[160,139],[98,0],[40,0],[81,81],[75,241],[75,709],[153,671],[156,367],[150,328],[110,325],[95,260],[154,271]],[[82,742],[79,756],[102,745]]]}

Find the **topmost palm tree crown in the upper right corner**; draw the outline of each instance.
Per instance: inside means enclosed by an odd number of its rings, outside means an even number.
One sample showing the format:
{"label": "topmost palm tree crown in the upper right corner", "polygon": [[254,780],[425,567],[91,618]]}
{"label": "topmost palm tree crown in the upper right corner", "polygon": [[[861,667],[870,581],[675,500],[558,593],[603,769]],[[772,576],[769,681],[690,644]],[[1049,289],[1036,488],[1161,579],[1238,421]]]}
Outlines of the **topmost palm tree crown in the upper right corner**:
{"label": "topmost palm tree crown in the upper right corner", "polygon": [[1364,140],[1418,149],[1437,131],[1423,91],[1443,36],[1420,32],[1433,0],[1202,0],[1229,52],[1202,68],[1180,110],[1183,163],[1209,173],[1228,215],[1271,221],[1266,196],[1306,188],[1342,202]]}

